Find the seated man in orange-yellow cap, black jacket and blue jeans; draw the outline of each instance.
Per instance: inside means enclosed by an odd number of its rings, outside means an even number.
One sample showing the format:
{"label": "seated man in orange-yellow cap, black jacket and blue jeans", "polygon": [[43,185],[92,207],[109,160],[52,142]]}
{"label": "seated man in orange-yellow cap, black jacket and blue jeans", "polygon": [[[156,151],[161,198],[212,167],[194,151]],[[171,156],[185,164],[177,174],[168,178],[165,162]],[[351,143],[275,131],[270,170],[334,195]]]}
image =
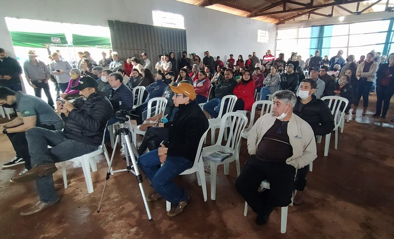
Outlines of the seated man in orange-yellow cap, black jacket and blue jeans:
{"label": "seated man in orange-yellow cap, black jacket and blue jeans", "polygon": [[159,149],[142,155],[138,165],[155,190],[147,196],[147,201],[163,197],[173,205],[167,215],[175,216],[184,210],[189,195],[175,185],[173,179],[193,166],[200,139],[208,129],[208,119],[194,100],[191,84],[180,83],[170,88],[174,92],[172,100],[179,111],[173,122],[161,125],[169,128],[168,141],[163,142]]}

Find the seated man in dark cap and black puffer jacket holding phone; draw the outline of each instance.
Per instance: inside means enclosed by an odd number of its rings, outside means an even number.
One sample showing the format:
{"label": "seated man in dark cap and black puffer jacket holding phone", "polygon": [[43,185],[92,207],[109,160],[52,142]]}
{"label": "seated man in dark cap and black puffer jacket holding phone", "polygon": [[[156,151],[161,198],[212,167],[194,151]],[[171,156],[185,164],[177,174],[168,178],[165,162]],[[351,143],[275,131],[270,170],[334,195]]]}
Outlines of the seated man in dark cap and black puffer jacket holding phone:
{"label": "seated man in dark cap and black puffer jacket holding phone", "polygon": [[80,91],[82,97],[74,103],[56,102],[56,110],[62,113],[65,123],[63,132],[40,127],[26,132],[33,168],[13,181],[35,180],[40,201],[22,211],[23,216],[40,212],[60,200],[53,185],[55,163],[91,153],[103,141],[104,128],[112,114],[111,103],[103,93],[97,92],[97,82],[91,77],[81,78],[72,89]]}

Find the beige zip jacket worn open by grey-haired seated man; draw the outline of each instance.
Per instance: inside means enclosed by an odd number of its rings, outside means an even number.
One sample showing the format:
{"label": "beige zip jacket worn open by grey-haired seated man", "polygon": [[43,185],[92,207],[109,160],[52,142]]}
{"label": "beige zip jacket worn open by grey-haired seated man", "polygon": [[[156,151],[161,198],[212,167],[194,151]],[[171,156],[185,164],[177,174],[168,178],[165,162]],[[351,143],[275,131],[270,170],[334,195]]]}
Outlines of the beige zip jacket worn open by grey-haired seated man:
{"label": "beige zip jacket worn open by grey-haired seated man", "polygon": [[[265,114],[250,129],[247,142],[249,155],[256,154],[257,146],[275,120],[273,114]],[[293,155],[286,159],[286,164],[295,168],[303,168],[318,157],[312,128],[295,114],[292,114],[287,125],[287,135],[293,147]]]}

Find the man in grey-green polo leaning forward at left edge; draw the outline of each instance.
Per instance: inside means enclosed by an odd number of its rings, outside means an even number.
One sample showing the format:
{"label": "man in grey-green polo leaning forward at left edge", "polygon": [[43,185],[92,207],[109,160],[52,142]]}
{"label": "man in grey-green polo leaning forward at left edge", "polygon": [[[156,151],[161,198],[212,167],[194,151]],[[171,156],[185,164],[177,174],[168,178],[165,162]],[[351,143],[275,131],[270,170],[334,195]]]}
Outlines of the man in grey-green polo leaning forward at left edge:
{"label": "man in grey-green polo leaning forward at left edge", "polygon": [[[18,175],[23,175],[31,169],[29,148],[26,140],[27,129],[37,126],[47,129],[62,129],[63,121],[52,107],[42,99],[27,95],[21,91],[14,92],[0,86],[0,105],[16,106],[17,117],[11,122],[0,124],[0,135],[5,134],[11,141],[16,157],[3,167],[12,167],[25,163],[25,169]],[[12,182],[12,180],[11,180]]]}

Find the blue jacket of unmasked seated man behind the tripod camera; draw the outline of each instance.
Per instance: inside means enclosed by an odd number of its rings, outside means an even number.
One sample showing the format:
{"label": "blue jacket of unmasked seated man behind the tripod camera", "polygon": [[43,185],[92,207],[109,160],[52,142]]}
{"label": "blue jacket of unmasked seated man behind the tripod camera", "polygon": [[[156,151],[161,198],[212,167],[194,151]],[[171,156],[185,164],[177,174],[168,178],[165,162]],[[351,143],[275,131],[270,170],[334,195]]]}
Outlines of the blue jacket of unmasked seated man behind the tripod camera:
{"label": "blue jacket of unmasked seated man behind the tripod camera", "polygon": [[120,110],[119,101],[122,101],[122,110],[130,111],[133,108],[134,97],[133,92],[126,85],[121,84],[119,88],[114,91],[111,90],[109,94],[109,101],[113,107],[113,113]]}

